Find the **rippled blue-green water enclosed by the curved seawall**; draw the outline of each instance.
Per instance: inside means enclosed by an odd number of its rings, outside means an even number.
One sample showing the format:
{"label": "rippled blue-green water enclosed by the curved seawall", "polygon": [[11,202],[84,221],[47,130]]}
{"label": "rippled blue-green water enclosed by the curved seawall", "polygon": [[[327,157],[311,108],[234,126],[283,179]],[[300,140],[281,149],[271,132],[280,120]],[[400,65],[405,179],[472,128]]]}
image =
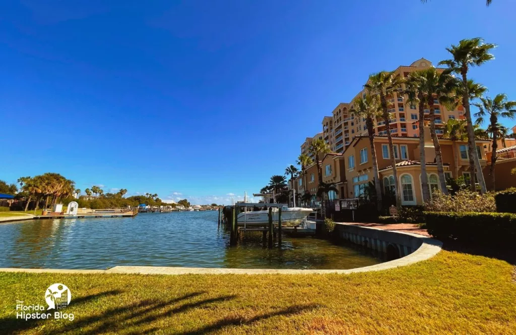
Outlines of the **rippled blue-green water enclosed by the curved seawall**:
{"label": "rippled blue-green water enclosed by the curved seawall", "polygon": [[261,233],[237,247],[217,229],[217,211],[140,213],[135,218],[30,220],[0,224],[0,267],[105,269],[117,265],[349,269],[381,262],[351,246]]}

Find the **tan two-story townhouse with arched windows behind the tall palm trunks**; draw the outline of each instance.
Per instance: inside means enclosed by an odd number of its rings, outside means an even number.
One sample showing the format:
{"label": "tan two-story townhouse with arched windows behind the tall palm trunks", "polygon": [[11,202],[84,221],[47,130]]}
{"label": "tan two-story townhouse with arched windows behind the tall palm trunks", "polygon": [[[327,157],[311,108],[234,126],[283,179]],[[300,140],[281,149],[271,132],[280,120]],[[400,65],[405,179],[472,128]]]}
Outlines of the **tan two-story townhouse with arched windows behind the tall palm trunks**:
{"label": "tan two-story townhouse with arched windows behind the tall palm trunks", "polygon": [[[393,137],[394,156],[401,194],[401,205],[422,205],[423,193],[421,188],[421,160],[419,138]],[[467,141],[456,142],[448,139],[440,139],[441,152],[446,177],[464,177],[470,180],[469,159],[467,153]],[[477,140],[477,153],[480,165],[487,166],[486,153],[482,149],[489,140]],[[384,190],[394,189],[393,169],[389,153],[389,143],[386,136],[376,135],[374,138],[376,159],[380,182]],[[369,181],[374,180],[373,162],[370,153],[368,136],[355,138],[344,152],[346,161],[346,191],[343,197],[359,197],[364,194],[364,188]],[[457,155],[457,165],[455,156]],[[425,160],[430,190],[439,189],[437,175],[436,153],[433,147],[430,130],[425,128]],[[342,196],[341,196],[342,197]]]}

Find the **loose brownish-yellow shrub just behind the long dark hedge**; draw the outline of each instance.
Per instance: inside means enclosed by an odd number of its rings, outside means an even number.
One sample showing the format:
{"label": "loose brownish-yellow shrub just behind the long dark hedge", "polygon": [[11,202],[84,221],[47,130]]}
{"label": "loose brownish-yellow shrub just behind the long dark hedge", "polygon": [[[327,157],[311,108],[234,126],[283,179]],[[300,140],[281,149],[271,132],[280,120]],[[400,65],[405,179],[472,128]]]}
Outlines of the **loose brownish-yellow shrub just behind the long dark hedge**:
{"label": "loose brownish-yellow shrub just behind the long dark hedge", "polygon": [[495,212],[496,205],[493,192],[478,194],[470,190],[460,190],[455,195],[434,195],[425,204],[427,211],[442,212]]}

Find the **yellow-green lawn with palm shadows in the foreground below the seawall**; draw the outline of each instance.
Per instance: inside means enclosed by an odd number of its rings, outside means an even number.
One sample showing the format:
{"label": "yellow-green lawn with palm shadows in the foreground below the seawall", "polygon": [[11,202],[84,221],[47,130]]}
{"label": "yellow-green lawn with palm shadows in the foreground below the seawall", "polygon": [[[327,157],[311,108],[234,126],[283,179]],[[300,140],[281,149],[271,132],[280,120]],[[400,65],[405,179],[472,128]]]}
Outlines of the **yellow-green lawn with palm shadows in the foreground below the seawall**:
{"label": "yellow-green lawn with palm shadows in the foreground below the seawall", "polygon": [[[516,331],[511,263],[445,250],[352,275],[0,272],[0,333],[509,334]],[[56,282],[71,290],[73,322],[15,319],[16,299],[45,305]]]}

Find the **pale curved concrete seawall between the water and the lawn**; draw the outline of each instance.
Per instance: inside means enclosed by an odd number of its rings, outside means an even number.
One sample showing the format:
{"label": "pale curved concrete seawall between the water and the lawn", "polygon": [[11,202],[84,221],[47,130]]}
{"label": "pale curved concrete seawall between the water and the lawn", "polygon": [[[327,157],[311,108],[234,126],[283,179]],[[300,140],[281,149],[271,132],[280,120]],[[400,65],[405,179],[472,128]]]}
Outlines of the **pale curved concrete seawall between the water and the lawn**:
{"label": "pale curved concrete seawall between the water and the lawn", "polygon": [[[235,269],[235,268],[188,268],[188,267],[159,267],[159,266],[115,266],[107,270],[74,270],[74,269],[19,269],[0,268],[4,272],[29,273],[140,273],[145,275],[218,275],[218,274],[245,274],[259,275],[270,273],[281,274],[314,274],[314,273],[354,273],[380,271],[399,266],[428,260],[441,251],[442,242],[436,239],[406,232],[395,232],[363,227],[346,223],[336,224],[336,233],[343,239],[353,243],[365,245],[368,248],[385,252],[393,257],[401,256],[390,262],[347,270],[296,270],[296,269]],[[399,255],[392,254],[398,250]]]}

